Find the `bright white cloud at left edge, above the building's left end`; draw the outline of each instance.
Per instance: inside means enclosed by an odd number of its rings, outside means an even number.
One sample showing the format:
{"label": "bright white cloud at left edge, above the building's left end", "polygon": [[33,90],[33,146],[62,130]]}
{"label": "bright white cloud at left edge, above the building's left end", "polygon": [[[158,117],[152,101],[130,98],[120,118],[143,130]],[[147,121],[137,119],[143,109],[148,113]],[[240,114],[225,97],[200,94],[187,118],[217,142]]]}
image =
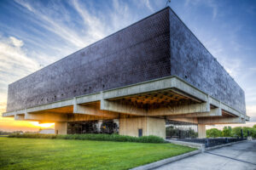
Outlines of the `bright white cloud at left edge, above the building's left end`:
{"label": "bright white cloud at left edge, above the building's left end", "polygon": [[8,84],[37,71],[38,62],[27,56],[23,41],[0,37],[0,112],[5,110]]}

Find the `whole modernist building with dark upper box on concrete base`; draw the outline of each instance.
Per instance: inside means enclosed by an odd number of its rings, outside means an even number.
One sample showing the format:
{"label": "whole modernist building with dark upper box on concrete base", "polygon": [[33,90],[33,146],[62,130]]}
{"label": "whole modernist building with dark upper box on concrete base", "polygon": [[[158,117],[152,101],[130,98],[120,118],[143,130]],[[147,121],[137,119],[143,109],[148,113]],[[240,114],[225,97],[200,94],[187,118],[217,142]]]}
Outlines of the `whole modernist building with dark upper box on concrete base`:
{"label": "whole modernist building with dark upper box on concrete base", "polygon": [[3,116],[55,122],[58,134],[162,138],[249,120],[243,90],[171,8],[9,84]]}

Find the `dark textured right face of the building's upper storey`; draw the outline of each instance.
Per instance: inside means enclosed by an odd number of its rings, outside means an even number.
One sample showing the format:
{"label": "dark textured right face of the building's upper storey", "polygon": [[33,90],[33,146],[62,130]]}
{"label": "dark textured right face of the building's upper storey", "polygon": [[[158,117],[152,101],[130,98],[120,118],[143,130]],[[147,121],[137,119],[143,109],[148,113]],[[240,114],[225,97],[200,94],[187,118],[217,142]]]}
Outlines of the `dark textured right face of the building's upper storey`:
{"label": "dark textured right face of the building's upper storey", "polygon": [[170,32],[171,74],[246,113],[243,90],[172,10]]}

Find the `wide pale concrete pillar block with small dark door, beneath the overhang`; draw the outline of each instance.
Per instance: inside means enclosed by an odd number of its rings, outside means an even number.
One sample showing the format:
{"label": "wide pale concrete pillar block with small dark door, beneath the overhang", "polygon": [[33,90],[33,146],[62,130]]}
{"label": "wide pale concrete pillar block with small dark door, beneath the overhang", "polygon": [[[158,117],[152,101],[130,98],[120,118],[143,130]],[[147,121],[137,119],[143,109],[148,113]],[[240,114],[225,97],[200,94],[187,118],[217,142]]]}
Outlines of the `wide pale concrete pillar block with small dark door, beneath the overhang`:
{"label": "wide pale concrete pillar block with small dark door, beneath the overhang", "polygon": [[119,119],[119,134],[138,137],[139,131],[143,136],[154,135],[166,139],[166,120],[148,116]]}

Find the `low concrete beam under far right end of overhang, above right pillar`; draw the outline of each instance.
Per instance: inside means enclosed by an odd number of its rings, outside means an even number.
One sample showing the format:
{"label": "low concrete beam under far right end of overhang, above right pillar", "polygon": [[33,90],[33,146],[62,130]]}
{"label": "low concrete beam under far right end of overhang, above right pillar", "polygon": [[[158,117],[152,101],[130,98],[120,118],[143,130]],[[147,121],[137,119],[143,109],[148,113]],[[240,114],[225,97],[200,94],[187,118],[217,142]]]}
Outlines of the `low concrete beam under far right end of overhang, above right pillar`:
{"label": "low concrete beam under far right end of overhang, above right pillar", "polygon": [[199,124],[212,125],[212,124],[230,124],[230,123],[244,123],[241,117],[209,117],[198,118]]}

